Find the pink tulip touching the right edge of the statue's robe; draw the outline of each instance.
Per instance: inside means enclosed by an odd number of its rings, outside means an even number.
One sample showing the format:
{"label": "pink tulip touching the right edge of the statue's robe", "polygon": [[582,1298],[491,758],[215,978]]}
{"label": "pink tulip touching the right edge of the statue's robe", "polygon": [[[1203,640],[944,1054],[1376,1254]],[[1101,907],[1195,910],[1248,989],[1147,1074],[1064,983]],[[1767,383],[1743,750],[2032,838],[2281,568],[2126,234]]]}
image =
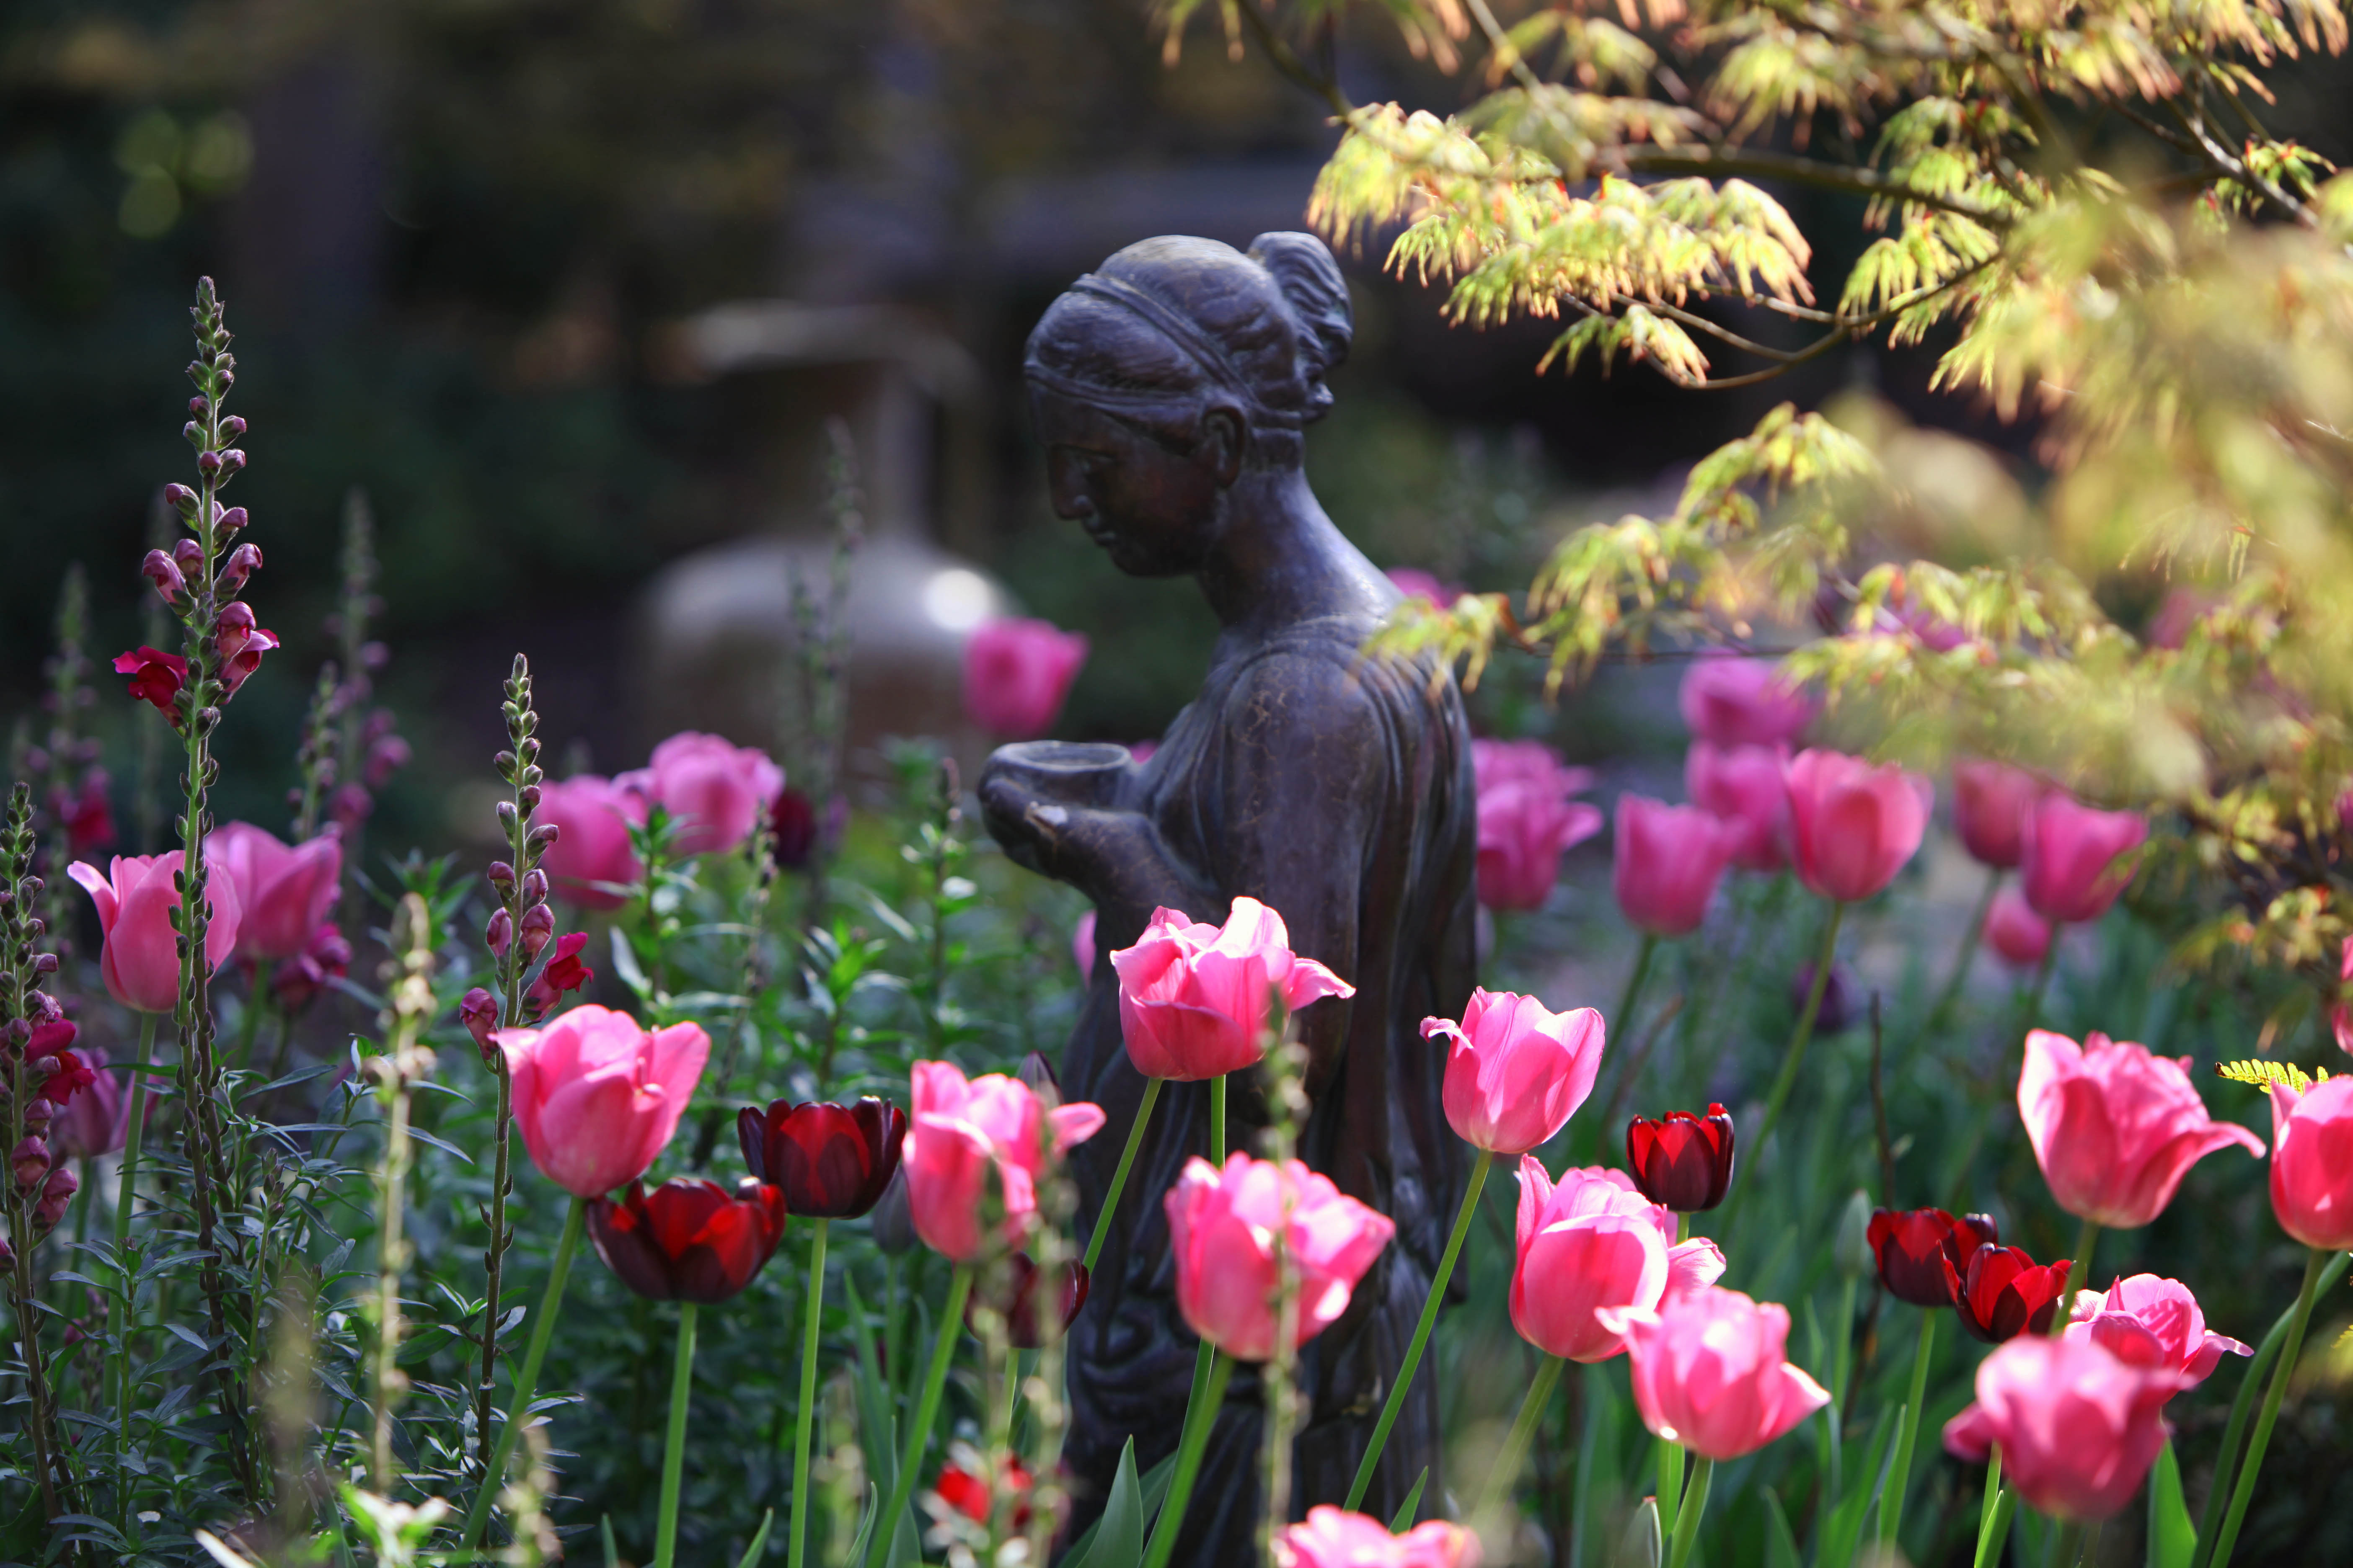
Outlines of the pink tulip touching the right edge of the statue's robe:
{"label": "pink tulip touching the right edge of the statue's robe", "polygon": [[1424,1018],[1421,1039],[1445,1037],[1442,1100],[1454,1135],[1489,1154],[1527,1154],[1551,1140],[1602,1065],[1602,1016],[1548,1013],[1534,997],[1473,990],[1461,1023]]}

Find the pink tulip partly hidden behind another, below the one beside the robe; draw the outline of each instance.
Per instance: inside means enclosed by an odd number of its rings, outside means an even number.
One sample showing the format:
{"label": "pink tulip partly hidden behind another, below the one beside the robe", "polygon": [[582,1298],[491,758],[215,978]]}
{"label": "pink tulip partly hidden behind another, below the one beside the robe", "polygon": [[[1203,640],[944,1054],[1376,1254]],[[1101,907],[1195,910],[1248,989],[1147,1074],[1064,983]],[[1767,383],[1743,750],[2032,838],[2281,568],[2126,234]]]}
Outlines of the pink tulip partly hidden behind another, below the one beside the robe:
{"label": "pink tulip partly hidden behind another, below the one beside the robe", "polygon": [[1675,1246],[1675,1215],[1635,1192],[1624,1171],[1586,1166],[1553,1185],[1539,1159],[1520,1159],[1511,1326],[1537,1349],[1607,1361],[1626,1349],[1607,1309],[1649,1309],[1722,1274],[1722,1251],[1706,1237]]}

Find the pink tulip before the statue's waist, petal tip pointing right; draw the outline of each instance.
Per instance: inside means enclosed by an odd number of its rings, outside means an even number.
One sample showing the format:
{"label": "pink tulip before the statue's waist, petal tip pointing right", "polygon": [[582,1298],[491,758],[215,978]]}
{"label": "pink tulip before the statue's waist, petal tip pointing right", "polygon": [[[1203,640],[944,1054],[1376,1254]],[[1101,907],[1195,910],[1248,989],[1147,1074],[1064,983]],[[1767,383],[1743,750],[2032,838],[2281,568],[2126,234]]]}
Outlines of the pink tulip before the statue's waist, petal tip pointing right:
{"label": "pink tulip before the statue's waist, petal tip pointing right", "polygon": [[1111,954],[1136,1072],[1181,1084],[1238,1072],[1259,1060],[1268,990],[1289,1009],[1355,994],[1289,940],[1282,917],[1257,898],[1235,898],[1224,926],[1153,910],[1136,945]]}

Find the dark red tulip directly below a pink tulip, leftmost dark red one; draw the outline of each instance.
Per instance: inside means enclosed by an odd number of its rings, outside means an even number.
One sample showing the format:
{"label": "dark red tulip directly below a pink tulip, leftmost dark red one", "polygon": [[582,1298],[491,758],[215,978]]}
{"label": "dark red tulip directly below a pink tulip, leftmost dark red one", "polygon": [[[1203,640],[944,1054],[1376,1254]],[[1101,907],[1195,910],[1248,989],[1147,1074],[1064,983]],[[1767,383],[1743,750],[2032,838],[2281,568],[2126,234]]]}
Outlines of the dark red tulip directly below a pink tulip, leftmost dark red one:
{"label": "dark red tulip directly below a pink tulip, leftmost dark red one", "polygon": [[619,1204],[588,1204],[588,1237],[605,1267],[638,1295],[708,1307],[751,1284],[784,1241],[784,1194],[751,1178],[734,1194],[685,1178],[652,1194],[631,1182]]}

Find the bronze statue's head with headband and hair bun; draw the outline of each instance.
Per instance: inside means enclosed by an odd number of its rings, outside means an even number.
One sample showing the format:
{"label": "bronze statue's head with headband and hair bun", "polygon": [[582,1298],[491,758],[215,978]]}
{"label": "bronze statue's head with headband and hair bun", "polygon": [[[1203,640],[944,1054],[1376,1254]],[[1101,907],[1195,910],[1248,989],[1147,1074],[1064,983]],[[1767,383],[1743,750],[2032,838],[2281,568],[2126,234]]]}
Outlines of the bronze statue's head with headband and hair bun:
{"label": "bronze statue's head with headband and hair bun", "polygon": [[1247,254],[1186,235],[1129,244],[1031,331],[1021,369],[1054,510],[1122,571],[1198,569],[1219,491],[1299,468],[1348,339],[1348,284],[1315,235],[1259,235]]}

